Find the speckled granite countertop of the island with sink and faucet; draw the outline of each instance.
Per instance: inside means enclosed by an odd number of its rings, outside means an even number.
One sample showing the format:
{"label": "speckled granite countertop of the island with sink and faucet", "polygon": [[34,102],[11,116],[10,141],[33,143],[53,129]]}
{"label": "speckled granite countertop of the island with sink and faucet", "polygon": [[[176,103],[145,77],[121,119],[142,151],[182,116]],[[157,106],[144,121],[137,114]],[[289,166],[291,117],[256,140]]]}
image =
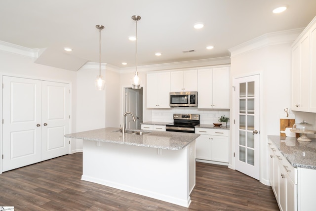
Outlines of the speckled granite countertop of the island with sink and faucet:
{"label": "speckled granite countertop of the island with sink and faucet", "polygon": [[133,130],[150,133],[144,135],[125,133],[123,140],[122,133],[117,131],[118,128],[116,127],[106,127],[101,129],[71,133],[65,135],[65,137],[116,144],[127,144],[141,147],[181,150],[199,136],[199,134],[195,133]]}

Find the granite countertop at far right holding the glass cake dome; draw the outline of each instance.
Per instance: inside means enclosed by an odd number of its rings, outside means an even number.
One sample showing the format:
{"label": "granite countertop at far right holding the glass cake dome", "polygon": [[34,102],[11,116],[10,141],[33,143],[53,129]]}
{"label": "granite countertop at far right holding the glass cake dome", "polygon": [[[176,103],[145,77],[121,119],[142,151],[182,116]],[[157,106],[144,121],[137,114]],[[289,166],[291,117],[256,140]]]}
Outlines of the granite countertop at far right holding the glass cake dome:
{"label": "granite countertop at far right holding the glass cake dome", "polygon": [[310,142],[278,135],[268,135],[268,138],[293,167],[316,169],[316,138],[310,138]]}

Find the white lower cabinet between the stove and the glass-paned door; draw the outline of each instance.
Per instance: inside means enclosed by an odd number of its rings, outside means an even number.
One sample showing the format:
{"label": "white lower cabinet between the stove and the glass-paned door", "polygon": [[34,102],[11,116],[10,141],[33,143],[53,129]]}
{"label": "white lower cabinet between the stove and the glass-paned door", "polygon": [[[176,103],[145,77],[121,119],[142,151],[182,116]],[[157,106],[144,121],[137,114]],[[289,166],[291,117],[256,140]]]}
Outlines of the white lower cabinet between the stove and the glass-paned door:
{"label": "white lower cabinet between the stove and the glass-paned door", "polygon": [[199,162],[229,163],[229,130],[196,128],[196,159]]}

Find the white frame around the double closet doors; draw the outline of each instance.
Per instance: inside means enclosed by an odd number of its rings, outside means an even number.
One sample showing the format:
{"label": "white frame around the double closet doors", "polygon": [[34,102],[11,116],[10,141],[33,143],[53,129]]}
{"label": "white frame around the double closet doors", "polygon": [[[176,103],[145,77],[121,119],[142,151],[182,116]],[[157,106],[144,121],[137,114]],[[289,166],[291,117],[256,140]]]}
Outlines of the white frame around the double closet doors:
{"label": "white frame around the double closet doors", "polygon": [[[69,119],[69,133],[72,133],[72,82],[71,81],[63,81],[63,80],[51,80],[48,78],[44,77],[37,77],[37,76],[26,76],[26,75],[19,75],[19,74],[10,74],[10,73],[5,73],[5,72],[0,72],[0,82],[1,82],[1,88],[0,88],[0,120],[2,122],[3,120],[3,76],[8,76],[8,77],[17,77],[17,78],[24,78],[24,79],[33,79],[33,80],[39,80],[39,81],[49,81],[49,82],[57,82],[57,83],[66,83],[69,84],[69,114],[70,114],[70,119]],[[72,139],[69,138],[70,145],[69,145],[69,152],[68,154],[72,153]],[[3,124],[0,124],[0,174],[2,173],[2,143],[3,143]]]}

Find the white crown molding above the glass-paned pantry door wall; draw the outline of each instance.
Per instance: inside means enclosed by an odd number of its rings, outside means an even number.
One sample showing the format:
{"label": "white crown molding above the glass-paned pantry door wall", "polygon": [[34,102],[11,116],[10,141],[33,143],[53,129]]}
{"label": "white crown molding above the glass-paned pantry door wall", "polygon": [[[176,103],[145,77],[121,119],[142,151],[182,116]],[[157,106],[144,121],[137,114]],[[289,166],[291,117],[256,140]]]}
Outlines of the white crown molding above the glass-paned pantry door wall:
{"label": "white crown molding above the glass-paned pantry door wall", "polygon": [[304,28],[299,28],[267,33],[250,41],[241,43],[228,50],[231,52],[232,58],[247,53],[249,51],[260,49],[262,47],[276,44],[292,43],[297,39],[297,37],[302,33],[303,30]]}

